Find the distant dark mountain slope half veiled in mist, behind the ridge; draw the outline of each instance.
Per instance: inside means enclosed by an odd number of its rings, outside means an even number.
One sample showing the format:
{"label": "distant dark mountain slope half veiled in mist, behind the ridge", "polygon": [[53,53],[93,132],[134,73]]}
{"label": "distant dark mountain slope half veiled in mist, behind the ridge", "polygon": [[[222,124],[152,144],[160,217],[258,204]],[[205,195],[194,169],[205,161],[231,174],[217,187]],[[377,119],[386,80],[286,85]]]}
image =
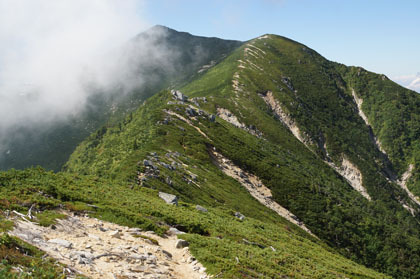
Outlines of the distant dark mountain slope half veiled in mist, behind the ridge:
{"label": "distant dark mountain slope half veiled in mist, behind the ridge", "polygon": [[[127,62],[132,69],[127,70],[126,82],[139,84],[136,88],[127,94],[122,94],[118,86],[115,86],[117,89],[108,89],[109,92],[93,88],[88,104],[80,113],[60,121],[16,127],[9,132],[7,148],[0,154],[0,169],[41,165],[60,170],[75,147],[92,132],[105,123],[118,123],[157,91],[179,86],[204,74],[240,44],[238,41],[193,36],[159,25],[139,34],[109,54],[135,63]],[[147,53],[143,53],[144,49]],[[153,59],[156,49],[168,53],[168,58],[164,61]],[[113,57],[104,58],[107,59]],[[124,86],[120,85],[121,88]]]}

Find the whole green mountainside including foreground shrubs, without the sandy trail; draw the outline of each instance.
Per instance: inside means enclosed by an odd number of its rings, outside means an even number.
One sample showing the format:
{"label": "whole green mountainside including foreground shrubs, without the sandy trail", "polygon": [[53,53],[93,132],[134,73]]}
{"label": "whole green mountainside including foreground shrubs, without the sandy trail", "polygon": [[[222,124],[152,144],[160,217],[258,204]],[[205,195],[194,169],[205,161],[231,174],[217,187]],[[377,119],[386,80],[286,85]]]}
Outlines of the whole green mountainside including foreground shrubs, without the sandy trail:
{"label": "whole green mountainside including foreground shrubs, without the sandy trail", "polygon": [[[159,235],[177,228],[215,278],[420,278],[417,93],[277,35],[165,32],[175,71],[149,65],[145,87],[93,99],[83,135],[94,132],[74,138],[61,172],[0,172],[0,275],[19,265],[58,276],[7,236],[10,212],[33,209],[43,226],[66,210]],[[71,126],[48,136],[51,150]],[[58,169],[73,149],[63,150],[42,160]],[[7,256],[19,247],[41,270]]]}

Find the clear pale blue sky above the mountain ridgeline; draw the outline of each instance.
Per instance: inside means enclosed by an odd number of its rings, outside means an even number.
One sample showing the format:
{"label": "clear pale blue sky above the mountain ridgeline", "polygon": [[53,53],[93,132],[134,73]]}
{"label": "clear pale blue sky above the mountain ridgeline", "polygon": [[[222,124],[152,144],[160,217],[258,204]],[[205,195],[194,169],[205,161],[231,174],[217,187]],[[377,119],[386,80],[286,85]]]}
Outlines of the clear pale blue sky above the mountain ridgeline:
{"label": "clear pale blue sky above the mountain ridgeline", "polygon": [[265,33],[286,36],[329,60],[401,83],[420,72],[420,1],[153,0],[141,9],[149,23],[195,35],[237,40]]}

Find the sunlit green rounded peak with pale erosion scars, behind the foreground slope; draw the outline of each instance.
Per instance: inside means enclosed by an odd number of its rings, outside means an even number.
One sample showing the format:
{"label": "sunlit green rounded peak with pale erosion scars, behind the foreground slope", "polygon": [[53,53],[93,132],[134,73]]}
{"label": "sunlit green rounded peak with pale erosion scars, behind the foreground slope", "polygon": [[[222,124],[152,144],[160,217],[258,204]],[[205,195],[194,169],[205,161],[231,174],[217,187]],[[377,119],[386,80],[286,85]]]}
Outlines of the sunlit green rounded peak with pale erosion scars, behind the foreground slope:
{"label": "sunlit green rounded peak with pale erosion scars, behind the foreground slope", "polygon": [[244,178],[218,171],[216,151],[343,255],[415,278],[419,206],[360,113],[346,69],[286,38],[259,37],[182,87],[189,101],[162,92],[120,127],[91,135],[66,168],[255,216],[231,188]]}

